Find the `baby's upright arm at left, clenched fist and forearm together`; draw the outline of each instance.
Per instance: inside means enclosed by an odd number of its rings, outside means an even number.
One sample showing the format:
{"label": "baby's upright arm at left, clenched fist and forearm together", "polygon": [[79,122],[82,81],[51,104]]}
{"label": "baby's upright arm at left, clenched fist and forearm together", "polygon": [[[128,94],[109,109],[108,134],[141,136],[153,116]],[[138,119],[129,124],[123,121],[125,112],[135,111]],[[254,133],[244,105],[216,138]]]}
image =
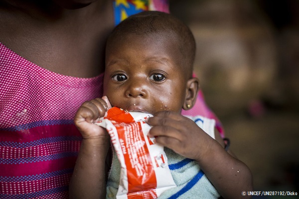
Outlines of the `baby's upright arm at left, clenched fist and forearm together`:
{"label": "baby's upright arm at left, clenched fist and forearm together", "polygon": [[107,167],[110,167],[106,165],[106,159],[109,159],[110,136],[106,129],[94,124],[105,115],[110,105],[107,98],[103,99],[84,102],[74,118],[83,139],[70,182],[71,199],[106,197]]}

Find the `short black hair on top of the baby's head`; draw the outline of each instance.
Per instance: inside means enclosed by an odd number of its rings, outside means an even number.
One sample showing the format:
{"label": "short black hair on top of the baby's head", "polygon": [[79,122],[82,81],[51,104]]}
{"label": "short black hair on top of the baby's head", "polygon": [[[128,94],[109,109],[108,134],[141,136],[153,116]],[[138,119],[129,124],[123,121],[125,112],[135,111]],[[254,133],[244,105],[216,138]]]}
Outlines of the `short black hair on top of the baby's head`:
{"label": "short black hair on top of the baby's head", "polygon": [[171,14],[159,11],[144,11],[132,15],[117,25],[110,34],[107,43],[115,38],[124,38],[128,34],[152,35],[166,33],[173,37],[181,53],[183,67],[190,69],[192,76],[196,44],[187,25]]}

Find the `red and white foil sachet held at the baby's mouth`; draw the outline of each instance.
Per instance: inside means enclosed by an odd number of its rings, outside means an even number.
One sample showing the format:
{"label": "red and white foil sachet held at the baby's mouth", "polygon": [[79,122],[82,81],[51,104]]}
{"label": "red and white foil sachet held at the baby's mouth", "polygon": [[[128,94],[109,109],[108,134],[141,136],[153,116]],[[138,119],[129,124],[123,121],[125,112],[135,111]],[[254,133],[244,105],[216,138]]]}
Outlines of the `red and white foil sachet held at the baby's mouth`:
{"label": "red and white foil sachet held at the baby's mouth", "polygon": [[156,199],[176,187],[163,146],[147,136],[151,116],[113,107],[96,123],[107,129],[121,164],[117,199]]}

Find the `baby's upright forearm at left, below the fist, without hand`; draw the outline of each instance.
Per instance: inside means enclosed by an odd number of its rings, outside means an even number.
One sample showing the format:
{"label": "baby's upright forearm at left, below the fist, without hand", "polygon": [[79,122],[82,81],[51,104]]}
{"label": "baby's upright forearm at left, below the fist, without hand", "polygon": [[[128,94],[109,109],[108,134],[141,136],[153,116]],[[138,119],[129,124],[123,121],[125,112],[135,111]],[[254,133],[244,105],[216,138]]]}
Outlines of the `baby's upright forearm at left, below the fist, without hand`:
{"label": "baby's upright forearm at left, below the fist, without hand", "polygon": [[71,199],[104,199],[106,197],[105,160],[107,139],[83,139],[70,182]]}

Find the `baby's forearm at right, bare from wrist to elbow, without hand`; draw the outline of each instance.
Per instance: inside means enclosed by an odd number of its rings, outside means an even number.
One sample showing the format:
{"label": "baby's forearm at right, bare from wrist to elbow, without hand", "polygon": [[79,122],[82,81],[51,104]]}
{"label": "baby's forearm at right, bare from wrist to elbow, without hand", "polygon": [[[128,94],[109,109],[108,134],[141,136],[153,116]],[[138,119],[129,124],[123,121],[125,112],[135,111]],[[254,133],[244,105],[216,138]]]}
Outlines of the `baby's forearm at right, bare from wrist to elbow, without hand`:
{"label": "baby's forearm at right, bare from wrist to elbow, without hand", "polygon": [[252,174],[240,160],[231,156],[215,140],[198,161],[199,166],[225,199],[244,198],[243,191],[252,191]]}

